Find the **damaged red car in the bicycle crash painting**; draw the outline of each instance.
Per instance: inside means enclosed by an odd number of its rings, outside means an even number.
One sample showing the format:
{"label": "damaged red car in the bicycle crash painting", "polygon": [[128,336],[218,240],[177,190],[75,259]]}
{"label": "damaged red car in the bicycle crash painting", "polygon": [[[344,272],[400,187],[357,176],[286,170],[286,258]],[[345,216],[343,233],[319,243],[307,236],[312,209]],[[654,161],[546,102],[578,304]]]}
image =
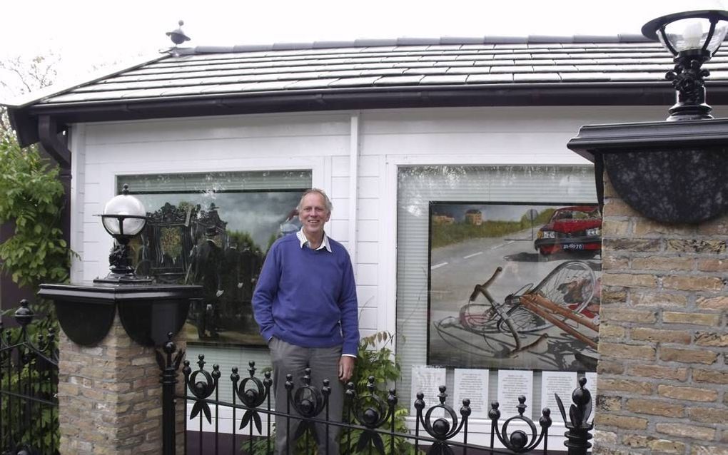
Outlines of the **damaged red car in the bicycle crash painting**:
{"label": "damaged red car in the bicycle crash painting", "polygon": [[601,213],[596,205],[557,209],[539,229],[534,248],[543,256],[559,251],[601,253]]}

